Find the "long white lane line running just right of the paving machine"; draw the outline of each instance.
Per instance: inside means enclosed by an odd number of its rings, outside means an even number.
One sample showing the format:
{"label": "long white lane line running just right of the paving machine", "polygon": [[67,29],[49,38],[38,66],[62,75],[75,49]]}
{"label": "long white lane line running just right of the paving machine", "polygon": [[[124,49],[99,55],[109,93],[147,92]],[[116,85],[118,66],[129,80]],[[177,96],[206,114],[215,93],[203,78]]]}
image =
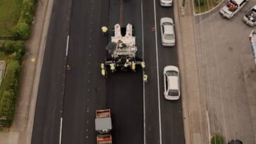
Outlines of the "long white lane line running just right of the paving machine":
{"label": "long white lane line running just right of the paving machine", "polygon": [[[142,61],[144,61],[144,28],[143,28],[143,1],[141,1],[141,32],[142,32]],[[145,71],[143,70],[143,75]],[[143,141],[146,144],[146,102],[145,102],[145,82],[143,81]]]}

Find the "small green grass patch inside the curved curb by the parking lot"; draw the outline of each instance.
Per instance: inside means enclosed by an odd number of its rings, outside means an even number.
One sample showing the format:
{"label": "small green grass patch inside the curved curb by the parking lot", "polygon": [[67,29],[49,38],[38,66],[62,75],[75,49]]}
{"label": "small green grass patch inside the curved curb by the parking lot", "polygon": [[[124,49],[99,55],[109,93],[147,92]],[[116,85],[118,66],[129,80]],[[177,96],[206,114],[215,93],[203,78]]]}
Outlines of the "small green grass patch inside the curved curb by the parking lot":
{"label": "small green grass patch inside the curved curb by the parking lot", "polygon": [[204,0],[204,1],[205,1],[205,4],[203,4],[202,6],[197,6],[196,3],[194,3],[195,12],[197,14],[203,13],[205,11],[210,11],[212,8],[215,8],[215,6],[217,6],[220,2],[222,2],[221,0]]}

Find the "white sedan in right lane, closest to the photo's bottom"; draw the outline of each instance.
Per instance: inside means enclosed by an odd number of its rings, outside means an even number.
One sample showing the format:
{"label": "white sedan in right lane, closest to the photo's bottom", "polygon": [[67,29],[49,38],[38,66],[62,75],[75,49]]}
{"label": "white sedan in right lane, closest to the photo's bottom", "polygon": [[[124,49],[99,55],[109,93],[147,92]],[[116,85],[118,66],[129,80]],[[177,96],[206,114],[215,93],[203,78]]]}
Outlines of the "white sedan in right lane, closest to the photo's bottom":
{"label": "white sedan in right lane, closest to the photo's bottom", "polygon": [[181,95],[178,67],[168,65],[164,68],[164,95],[167,100],[179,100]]}

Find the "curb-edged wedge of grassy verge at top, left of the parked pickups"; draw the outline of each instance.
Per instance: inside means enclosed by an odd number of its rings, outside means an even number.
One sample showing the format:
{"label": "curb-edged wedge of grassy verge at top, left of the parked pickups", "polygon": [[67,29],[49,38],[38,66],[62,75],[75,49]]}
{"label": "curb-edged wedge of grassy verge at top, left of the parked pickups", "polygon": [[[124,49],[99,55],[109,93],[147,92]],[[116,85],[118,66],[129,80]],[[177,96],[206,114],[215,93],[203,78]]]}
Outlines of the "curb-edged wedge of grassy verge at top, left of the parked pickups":
{"label": "curb-edged wedge of grassy verge at top, left of the parked pickups", "polygon": [[215,8],[221,0],[194,0],[195,13],[203,13],[205,11],[210,11]]}

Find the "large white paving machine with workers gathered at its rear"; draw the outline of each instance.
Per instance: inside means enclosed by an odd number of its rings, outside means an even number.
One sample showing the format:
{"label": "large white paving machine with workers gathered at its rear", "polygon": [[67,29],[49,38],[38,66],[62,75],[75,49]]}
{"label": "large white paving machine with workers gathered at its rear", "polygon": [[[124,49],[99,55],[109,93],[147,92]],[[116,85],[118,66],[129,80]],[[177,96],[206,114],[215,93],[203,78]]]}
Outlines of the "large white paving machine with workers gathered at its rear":
{"label": "large white paving machine with workers gathered at its rear", "polygon": [[140,65],[142,59],[136,55],[137,46],[134,37],[134,27],[127,24],[127,27],[121,27],[116,24],[113,29],[113,36],[106,46],[105,64],[101,65],[101,69],[105,69],[106,73],[117,71],[136,72],[136,66]]}

